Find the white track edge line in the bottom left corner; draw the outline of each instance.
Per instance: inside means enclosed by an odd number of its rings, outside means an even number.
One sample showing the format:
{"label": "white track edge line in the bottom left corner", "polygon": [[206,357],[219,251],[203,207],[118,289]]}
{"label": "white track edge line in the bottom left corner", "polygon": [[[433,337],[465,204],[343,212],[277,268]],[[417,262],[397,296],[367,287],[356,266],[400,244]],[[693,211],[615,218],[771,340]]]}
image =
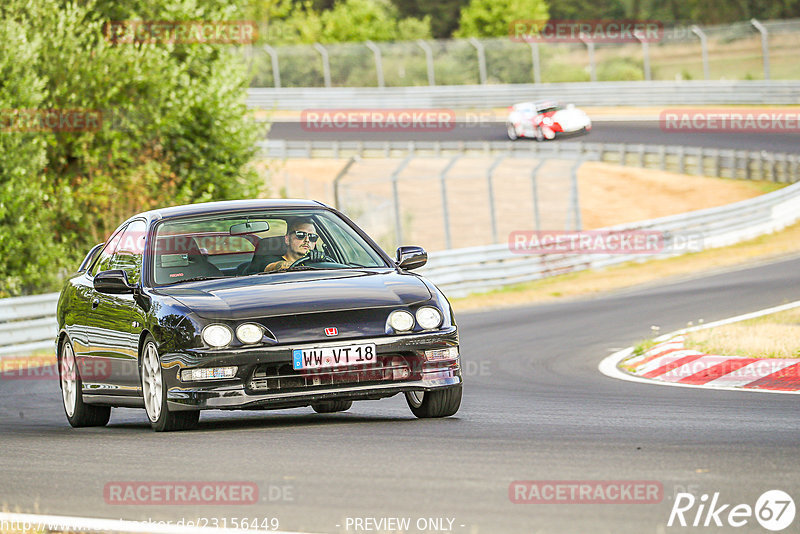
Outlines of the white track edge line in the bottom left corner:
{"label": "white track edge line in the bottom left corner", "polygon": [[[148,520],[135,521],[126,519],[96,519],[91,517],[72,517],[59,515],[37,515],[37,514],[17,514],[0,512],[0,526],[18,528],[8,532],[23,531],[24,526],[29,529],[43,529],[45,531],[75,531],[89,530],[98,532],[133,532],[148,534],[192,534],[200,532],[203,534],[254,534],[257,530],[248,529],[225,529],[214,527],[185,526],[162,524],[165,521]],[[282,530],[270,530],[275,534],[310,534],[307,532],[290,532]]]}

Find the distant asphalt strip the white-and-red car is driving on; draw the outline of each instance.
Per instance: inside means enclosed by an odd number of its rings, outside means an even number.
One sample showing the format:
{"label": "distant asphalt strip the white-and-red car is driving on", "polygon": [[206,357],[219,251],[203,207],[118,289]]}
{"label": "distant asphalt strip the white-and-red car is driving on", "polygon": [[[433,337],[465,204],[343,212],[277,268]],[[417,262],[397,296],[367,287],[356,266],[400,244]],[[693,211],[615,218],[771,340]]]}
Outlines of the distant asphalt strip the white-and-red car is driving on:
{"label": "distant asphalt strip the white-and-red car is driving on", "polygon": [[[449,131],[315,131],[300,122],[272,124],[269,139],[294,141],[508,141],[505,123],[491,117],[462,122]],[[683,145],[768,152],[800,152],[800,133],[786,132],[669,132],[658,121],[593,121],[587,136],[564,138],[587,143],[630,143],[646,145]],[[519,140],[518,143],[535,143]],[[556,140],[555,142],[558,142]]]}

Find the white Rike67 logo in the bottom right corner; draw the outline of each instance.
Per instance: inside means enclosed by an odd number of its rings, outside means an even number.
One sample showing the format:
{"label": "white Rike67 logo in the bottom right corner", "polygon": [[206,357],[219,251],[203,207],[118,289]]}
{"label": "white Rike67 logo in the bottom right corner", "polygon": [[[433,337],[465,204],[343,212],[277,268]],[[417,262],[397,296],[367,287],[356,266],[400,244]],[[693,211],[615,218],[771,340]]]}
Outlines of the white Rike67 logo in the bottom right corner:
{"label": "white Rike67 logo in the bottom right corner", "polygon": [[794,500],[781,490],[765,491],[756,500],[755,506],[723,503],[719,492],[715,492],[710,498],[706,493],[699,498],[691,493],[678,493],[667,526],[739,528],[752,525],[755,518],[765,529],[778,532],[792,526],[795,511]]}

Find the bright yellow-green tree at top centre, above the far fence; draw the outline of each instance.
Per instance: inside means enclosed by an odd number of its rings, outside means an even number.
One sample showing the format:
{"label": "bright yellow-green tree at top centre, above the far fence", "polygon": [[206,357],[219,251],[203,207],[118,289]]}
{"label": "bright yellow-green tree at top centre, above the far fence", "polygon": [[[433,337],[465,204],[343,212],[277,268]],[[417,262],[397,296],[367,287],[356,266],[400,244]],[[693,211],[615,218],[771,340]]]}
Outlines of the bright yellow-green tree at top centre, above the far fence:
{"label": "bright yellow-green tree at top centre, above the far fence", "polygon": [[461,10],[456,37],[505,37],[517,20],[547,20],[545,0],[471,0]]}

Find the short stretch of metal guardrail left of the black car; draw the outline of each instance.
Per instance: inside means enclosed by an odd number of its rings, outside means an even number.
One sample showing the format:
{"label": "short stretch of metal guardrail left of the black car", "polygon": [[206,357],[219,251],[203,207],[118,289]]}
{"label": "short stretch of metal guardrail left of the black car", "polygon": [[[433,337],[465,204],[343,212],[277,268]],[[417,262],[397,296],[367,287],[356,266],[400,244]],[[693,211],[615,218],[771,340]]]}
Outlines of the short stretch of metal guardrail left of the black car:
{"label": "short stretch of metal guardrail left of the black car", "polygon": [[0,299],[0,356],[54,347],[58,293]]}

